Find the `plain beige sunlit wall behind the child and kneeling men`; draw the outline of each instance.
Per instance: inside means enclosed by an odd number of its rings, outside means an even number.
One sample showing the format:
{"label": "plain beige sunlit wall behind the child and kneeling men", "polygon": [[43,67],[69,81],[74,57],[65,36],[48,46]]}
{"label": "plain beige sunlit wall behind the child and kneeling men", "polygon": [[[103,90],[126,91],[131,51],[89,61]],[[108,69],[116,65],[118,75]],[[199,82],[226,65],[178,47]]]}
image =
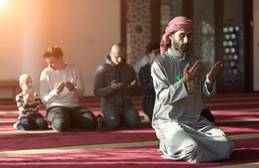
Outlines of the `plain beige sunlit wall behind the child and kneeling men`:
{"label": "plain beige sunlit wall behind the child and kneeling men", "polygon": [[[82,71],[85,96],[93,95],[93,75],[109,48],[120,41],[119,0],[6,0],[0,7],[0,80],[30,73],[39,92],[46,67],[42,53],[59,45],[67,62]],[[0,90],[10,98],[11,90]]]}

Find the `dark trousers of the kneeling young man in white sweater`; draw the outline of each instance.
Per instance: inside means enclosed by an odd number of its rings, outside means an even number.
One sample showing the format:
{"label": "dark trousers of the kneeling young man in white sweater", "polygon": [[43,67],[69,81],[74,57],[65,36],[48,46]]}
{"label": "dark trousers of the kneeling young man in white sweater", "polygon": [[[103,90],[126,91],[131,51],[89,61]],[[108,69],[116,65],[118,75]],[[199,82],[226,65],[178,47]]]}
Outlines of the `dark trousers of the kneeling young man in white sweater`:
{"label": "dark trousers of the kneeling young man in white sweater", "polygon": [[58,132],[67,131],[70,127],[94,130],[98,126],[93,113],[81,106],[52,106],[47,109],[47,118],[52,129]]}

